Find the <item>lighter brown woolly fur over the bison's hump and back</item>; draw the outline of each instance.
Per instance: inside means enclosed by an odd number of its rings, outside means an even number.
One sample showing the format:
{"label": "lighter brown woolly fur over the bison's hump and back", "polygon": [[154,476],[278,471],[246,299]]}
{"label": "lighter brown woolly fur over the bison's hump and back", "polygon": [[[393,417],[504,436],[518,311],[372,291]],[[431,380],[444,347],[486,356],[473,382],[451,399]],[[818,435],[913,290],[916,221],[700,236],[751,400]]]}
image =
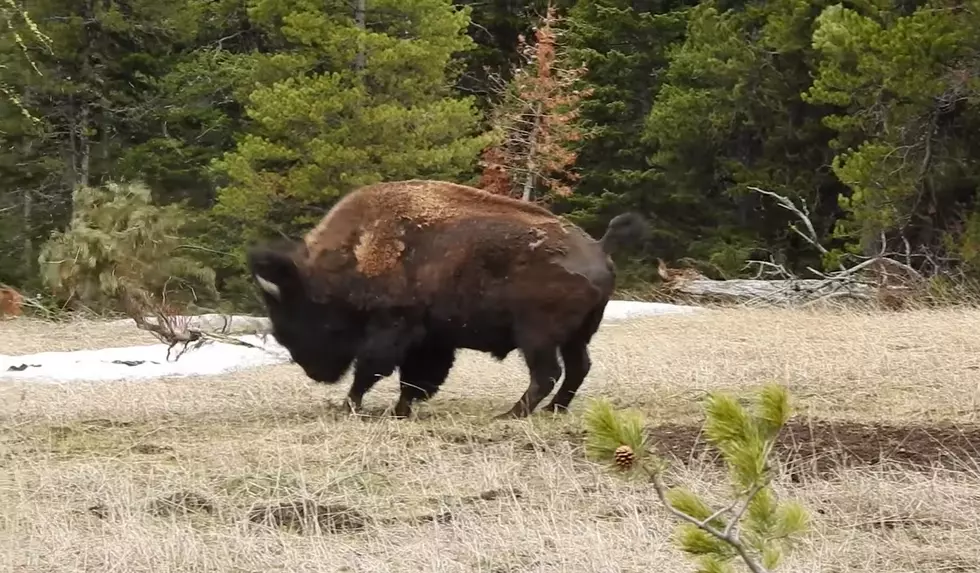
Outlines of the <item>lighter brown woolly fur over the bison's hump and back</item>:
{"label": "lighter brown woolly fur over the bison's hump and back", "polygon": [[[582,236],[570,237],[573,233]],[[476,289],[471,295],[477,295],[489,285],[469,274],[502,279],[508,270],[552,262],[592,242],[532,203],[426,180],[358,189],[304,237],[307,263],[321,284],[337,288],[337,281],[348,281],[356,271],[380,281],[371,285],[383,285],[383,293],[358,288],[366,297],[392,302],[424,299],[447,281]],[[472,262],[482,264],[469,268]]]}

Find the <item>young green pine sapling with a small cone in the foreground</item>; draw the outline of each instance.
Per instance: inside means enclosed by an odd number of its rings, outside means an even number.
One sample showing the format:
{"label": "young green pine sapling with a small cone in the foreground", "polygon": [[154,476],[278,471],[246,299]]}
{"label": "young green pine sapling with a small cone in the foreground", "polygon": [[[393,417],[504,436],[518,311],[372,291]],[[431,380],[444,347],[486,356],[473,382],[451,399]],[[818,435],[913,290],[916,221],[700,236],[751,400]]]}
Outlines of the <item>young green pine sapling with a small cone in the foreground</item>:
{"label": "young green pine sapling with a small cone in the foreground", "polygon": [[723,507],[711,507],[684,487],[664,484],[666,466],[651,452],[638,412],[594,402],[585,415],[586,453],[617,474],[652,483],[667,511],[682,521],[676,542],[696,557],[699,573],[732,572],[735,559],[753,573],[766,573],[808,527],[806,510],[793,501],[777,501],[770,486],[769,455],[791,415],[787,392],[767,386],[751,410],[728,394],[713,393],[704,410],[704,434],[724,458],[733,489],[733,499]]}

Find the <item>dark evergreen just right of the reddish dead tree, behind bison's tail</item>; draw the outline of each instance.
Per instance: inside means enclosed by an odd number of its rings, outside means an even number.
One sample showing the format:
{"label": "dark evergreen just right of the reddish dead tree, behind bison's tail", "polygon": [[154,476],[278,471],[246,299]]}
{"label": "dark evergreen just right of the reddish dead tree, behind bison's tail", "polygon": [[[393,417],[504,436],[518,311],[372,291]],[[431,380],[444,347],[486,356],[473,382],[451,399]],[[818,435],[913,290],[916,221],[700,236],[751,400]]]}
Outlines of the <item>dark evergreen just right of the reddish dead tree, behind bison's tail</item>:
{"label": "dark evergreen just right of the reddish dead tree, behind bison's tail", "polygon": [[[624,208],[667,214],[652,187],[643,122],[663,86],[668,49],[683,39],[690,3],[579,0],[569,12],[565,38],[570,56],[588,70],[582,83],[589,95],[580,104],[580,179],[554,208],[593,232]],[[655,242],[669,244],[671,232],[655,225]]]}

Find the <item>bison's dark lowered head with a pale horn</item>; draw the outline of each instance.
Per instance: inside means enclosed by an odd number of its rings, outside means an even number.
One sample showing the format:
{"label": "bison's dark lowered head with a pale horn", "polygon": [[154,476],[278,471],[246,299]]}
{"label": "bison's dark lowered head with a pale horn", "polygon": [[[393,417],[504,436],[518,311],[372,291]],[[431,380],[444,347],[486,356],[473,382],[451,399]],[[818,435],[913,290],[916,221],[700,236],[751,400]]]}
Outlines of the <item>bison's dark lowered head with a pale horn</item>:
{"label": "bison's dark lowered head with a pale horn", "polygon": [[279,242],[248,252],[249,270],[269,309],[272,335],[307,376],[337,382],[354,360],[362,321],[344,301],[332,300],[322,288],[311,288],[305,265],[306,246],[300,242]]}

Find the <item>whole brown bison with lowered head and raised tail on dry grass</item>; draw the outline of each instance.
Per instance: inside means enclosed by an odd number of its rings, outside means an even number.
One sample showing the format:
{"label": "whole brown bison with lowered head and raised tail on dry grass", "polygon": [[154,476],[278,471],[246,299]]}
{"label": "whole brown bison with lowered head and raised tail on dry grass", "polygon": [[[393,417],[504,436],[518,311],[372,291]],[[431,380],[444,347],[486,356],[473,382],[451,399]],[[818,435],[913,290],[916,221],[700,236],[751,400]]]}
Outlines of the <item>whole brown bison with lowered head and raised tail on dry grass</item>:
{"label": "whole brown bison with lowered head and raised tail on dry grass", "polygon": [[507,413],[564,411],[591,367],[588,345],[612,294],[609,254],[646,221],[613,218],[598,241],[543,207],[454,183],[411,180],[346,195],[301,241],[253,246],[247,263],[274,338],[311,379],[354,366],[354,411],[399,371],[394,415],[406,417],[445,381],[460,348],[503,360],[520,349],[530,372]]}

